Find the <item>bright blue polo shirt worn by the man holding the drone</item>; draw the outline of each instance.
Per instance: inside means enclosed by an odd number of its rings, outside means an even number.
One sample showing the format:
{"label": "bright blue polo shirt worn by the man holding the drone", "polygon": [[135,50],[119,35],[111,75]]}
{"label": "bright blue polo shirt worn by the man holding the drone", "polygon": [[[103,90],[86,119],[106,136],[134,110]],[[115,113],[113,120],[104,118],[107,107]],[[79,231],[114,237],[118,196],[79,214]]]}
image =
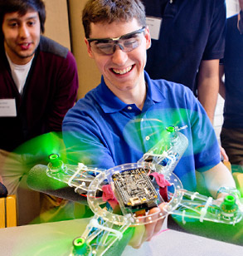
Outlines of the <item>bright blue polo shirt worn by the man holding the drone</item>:
{"label": "bright blue polo shirt worn by the man holding the drone", "polygon": [[181,131],[189,145],[174,172],[187,190],[195,190],[195,168],[204,171],[220,162],[211,122],[187,87],[144,76],[148,88],[142,111],[120,101],[103,78],[68,111],[63,138],[69,158],[104,169],[135,163],[161,139],[165,127],[187,126]]}

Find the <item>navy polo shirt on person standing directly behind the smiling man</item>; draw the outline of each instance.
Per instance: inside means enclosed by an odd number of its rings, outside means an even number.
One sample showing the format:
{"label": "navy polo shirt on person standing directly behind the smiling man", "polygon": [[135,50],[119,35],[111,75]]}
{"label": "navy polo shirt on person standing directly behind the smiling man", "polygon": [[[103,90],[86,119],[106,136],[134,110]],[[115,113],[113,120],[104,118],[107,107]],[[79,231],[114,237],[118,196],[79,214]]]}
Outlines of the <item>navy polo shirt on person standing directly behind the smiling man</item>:
{"label": "navy polo shirt on person standing directly behind the smiling man", "polygon": [[147,17],[162,18],[158,40],[152,39],[145,70],[153,79],[197,89],[202,60],[224,54],[225,0],[143,0]]}

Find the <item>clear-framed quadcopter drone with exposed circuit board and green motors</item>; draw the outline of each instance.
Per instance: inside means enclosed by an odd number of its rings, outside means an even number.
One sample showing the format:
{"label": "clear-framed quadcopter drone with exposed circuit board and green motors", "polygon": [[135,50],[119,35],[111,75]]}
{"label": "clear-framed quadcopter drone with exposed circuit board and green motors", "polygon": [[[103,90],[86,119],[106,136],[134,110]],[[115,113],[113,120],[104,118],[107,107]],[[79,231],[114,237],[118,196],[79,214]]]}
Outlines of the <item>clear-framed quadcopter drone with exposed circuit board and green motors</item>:
{"label": "clear-framed quadcopter drone with exposed circuit board and green motors", "polygon": [[[85,194],[95,214],[85,232],[74,239],[70,255],[104,255],[130,226],[153,223],[168,214],[181,215],[182,223],[186,218],[224,224],[241,221],[238,190],[226,188],[228,195],[217,205],[211,197],[184,190],[173,174],[188,144],[181,129],[167,127],[163,139],[137,163],[109,170],[81,163],[67,165],[59,155],[49,156],[46,175],[65,182],[76,193]],[[167,205],[163,211],[149,214],[149,209],[163,203]]]}

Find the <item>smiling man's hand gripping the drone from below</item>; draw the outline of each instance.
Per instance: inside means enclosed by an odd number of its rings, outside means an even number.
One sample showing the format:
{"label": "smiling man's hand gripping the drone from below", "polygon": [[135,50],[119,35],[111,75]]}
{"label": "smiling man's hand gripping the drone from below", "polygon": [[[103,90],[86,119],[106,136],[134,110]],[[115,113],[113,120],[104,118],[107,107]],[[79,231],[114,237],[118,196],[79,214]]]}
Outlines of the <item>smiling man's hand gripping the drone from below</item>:
{"label": "smiling man's hand gripping the drone from below", "polygon": [[150,241],[155,234],[158,234],[158,232],[163,226],[167,205],[168,205],[167,203],[163,203],[159,205],[159,208],[153,208],[149,210],[148,215],[155,214],[157,216],[154,216],[154,217],[157,218],[158,214],[162,212],[164,215],[164,218],[158,219],[157,221],[154,221],[151,224],[136,226],[134,229],[134,235],[129,242],[130,246],[132,246],[134,249],[139,249],[139,247],[143,244],[143,242]]}

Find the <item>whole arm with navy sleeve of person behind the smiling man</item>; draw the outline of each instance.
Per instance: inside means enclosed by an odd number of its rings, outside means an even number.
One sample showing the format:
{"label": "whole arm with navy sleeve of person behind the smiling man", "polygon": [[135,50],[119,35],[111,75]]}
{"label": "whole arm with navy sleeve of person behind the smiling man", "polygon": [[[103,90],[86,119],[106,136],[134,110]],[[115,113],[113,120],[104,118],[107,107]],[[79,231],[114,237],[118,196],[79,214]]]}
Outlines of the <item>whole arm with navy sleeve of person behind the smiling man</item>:
{"label": "whole arm with navy sleeve of person behind the smiling man", "polygon": [[213,121],[219,91],[219,60],[224,56],[226,36],[226,2],[217,0],[211,13],[211,28],[198,71],[198,98]]}

